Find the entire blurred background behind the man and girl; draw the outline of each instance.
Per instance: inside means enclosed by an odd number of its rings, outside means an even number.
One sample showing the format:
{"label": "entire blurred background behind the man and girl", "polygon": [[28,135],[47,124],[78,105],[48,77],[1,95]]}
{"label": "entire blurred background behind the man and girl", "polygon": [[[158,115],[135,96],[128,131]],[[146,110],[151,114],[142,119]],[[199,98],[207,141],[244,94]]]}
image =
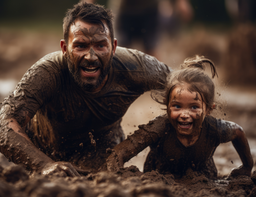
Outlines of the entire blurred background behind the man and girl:
{"label": "entire blurred background behind the man and girl", "polygon": [[[0,102],[24,73],[48,53],[61,50],[62,19],[79,0],[0,1]],[[256,160],[256,1],[255,0],[90,0],[115,14],[118,46],[134,48],[175,69],[195,54],[217,65],[217,99],[227,103],[216,116],[244,128]],[[220,94],[220,95],[219,95]],[[0,105],[1,107],[1,105]],[[126,135],[139,124],[165,113],[150,92],[135,101],[123,117]],[[223,114],[226,114],[224,116]],[[143,171],[149,148],[126,166]],[[241,164],[232,143],[221,144],[214,161],[220,175]],[[2,166],[12,165],[0,156]],[[256,166],[254,165],[254,169]]]}

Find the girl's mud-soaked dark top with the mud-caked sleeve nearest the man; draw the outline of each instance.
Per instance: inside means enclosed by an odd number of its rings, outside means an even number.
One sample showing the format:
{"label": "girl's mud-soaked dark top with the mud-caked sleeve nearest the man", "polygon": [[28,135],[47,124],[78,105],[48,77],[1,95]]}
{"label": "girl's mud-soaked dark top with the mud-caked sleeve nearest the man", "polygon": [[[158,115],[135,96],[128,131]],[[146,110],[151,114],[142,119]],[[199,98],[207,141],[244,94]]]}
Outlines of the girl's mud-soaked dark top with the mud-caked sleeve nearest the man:
{"label": "girl's mud-soaked dark top with the mud-caked sleeve nearest the man", "polygon": [[[232,122],[205,117],[202,132],[198,141],[185,147],[177,138],[174,127],[167,114],[158,116],[146,125],[140,125],[139,130],[127,137],[114,150],[117,154],[123,149],[123,162],[150,145],[149,163],[145,163],[147,171],[158,169],[162,174],[182,174],[188,167],[200,170],[214,154],[220,143],[232,139]],[[130,144],[129,146],[126,144]],[[126,148],[124,148],[126,147]],[[129,154],[129,153],[133,154]],[[149,158],[149,156],[148,156]]]}

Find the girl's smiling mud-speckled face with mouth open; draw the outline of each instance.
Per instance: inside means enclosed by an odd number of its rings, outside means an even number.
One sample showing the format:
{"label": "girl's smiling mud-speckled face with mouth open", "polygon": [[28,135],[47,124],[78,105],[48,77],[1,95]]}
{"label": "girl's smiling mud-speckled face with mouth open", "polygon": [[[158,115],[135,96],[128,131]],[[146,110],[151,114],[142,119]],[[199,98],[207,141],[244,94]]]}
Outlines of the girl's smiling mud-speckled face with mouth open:
{"label": "girl's smiling mud-speckled face with mouth open", "polygon": [[206,104],[187,85],[177,86],[170,95],[168,118],[179,135],[199,135],[206,115]]}

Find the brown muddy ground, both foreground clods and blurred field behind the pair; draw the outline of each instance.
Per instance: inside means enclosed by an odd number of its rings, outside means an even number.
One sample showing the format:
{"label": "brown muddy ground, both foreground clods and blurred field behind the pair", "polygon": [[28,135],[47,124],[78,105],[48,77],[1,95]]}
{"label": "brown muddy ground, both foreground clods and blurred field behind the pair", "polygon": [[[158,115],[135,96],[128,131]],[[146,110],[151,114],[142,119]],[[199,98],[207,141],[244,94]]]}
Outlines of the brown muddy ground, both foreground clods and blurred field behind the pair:
{"label": "brown muddy ground, both foreground clods and blurred field behind the pair", "polygon": [[[243,27],[240,26],[228,32],[214,32],[196,27],[188,32],[181,32],[172,38],[169,35],[162,35],[160,44],[155,51],[161,61],[173,68],[179,65],[183,59],[193,56],[195,53],[207,55],[216,62],[219,82],[221,83],[219,89],[224,93],[222,96],[227,102],[226,116],[222,117],[225,120],[234,121],[244,128],[255,161],[256,86],[254,83],[245,85],[239,83],[240,81],[245,83],[250,75],[244,74],[245,69],[243,75],[238,75],[240,73],[239,65],[236,65],[235,69],[230,69],[226,58],[232,56],[239,59],[243,56],[243,54],[239,54],[241,50],[229,52],[230,42],[237,40],[236,37],[240,38],[240,34],[243,34],[244,38],[248,37],[246,32],[250,34],[254,27],[249,25],[244,27],[245,30],[242,33],[239,33],[241,28]],[[59,40],[62,39],[62,35],[59,31],[52,30],[47,32],[20,29],[19,34],[12,29],[0,28],[0,30],[0,44],[2,46],[0,48],[0,102],[2,102],[9,92],[14,90],[17,82],[33,63],[47,53],[60,50]],[[250,39],[254,40],[254,37]],[[237,43],[239,45],[239,42]],[[243,42],[240,43],[243,45]],[[248,40],[246,43],[248,45],[252,42]],[[238,46],[238,48],[243,48],[243,53],[251,54],[251,51],[246,52],[247,45]],[[233,45],[231,44],[231,46]],[[143,50],[138,44],[135,44],[133,48]],[[253,56],[252,54],[252,57],[256,57],[256,55]],[[252,57],[247,57],[247,62],[254,62],[250,59]],[[233,62],[238,61],[234,59]],[[249,63],[246,65],[248,66]],[[247,68],[250,74],[255,73],[255,64],[253,66],[250,67],[252,70]],[[238,80],[238,76],[242,76],[242,79]],[[229,80],[231,81],[227,85]],[[132,134],[139,124],[145,124],[155,116],[164,113],[159,104],[150,98],[149,94],[150,92],[146,92],[137,99],[123,117],[121,126],[125,135]],[[233,181],[220,179],[216,182],[190,170],[181,180],[174,180],[170,175],[163,176],[155,171],[143,174],[143,164],[148,152],[149,148],[146,148],[125,163],[125,168],[117,174],[101,172],[89,174],[82,178],[62,178],[53,175],[35,175],[32,177],[21,166],[9,163],[4,156],[0,155],[0,165],[2,166],[0,167],[0,197],[256,196],[256,173],[252,174],[251,177],[239,176]],[[216,149],[214,162],[219,177],[228,175],[232,168],[241,164],[232,143],[221,144]],[[256,170],[255,164],[254,170]]]}

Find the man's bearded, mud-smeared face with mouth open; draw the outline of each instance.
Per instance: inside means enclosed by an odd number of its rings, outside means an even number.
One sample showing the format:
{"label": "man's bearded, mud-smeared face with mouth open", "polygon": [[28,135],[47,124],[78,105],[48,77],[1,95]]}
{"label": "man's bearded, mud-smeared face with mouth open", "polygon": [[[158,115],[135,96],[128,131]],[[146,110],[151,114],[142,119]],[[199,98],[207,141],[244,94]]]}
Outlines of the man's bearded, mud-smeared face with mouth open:
{"label": "man's bearded, mud-smeared face with mouth open", "polygon": [[86,90],[97,89],[108,75],[113,50],[108,26],[76,21],[70,26],[65,58],[76,83]]}

